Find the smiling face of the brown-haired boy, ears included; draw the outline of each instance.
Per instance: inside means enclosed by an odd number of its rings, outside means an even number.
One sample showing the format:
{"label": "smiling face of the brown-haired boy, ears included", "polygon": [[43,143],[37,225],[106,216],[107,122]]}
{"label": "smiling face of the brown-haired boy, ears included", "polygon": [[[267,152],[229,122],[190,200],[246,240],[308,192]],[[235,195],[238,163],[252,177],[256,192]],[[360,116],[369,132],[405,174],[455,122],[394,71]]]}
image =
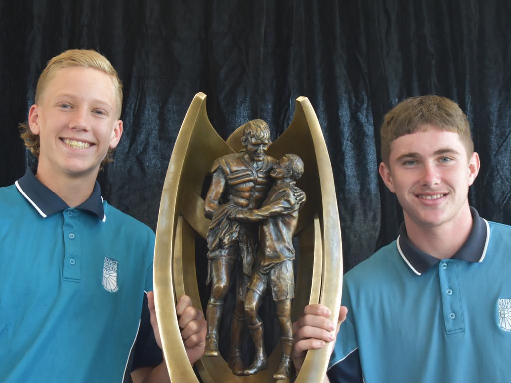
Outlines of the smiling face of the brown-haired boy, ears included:
{"label": "smiling face of the brown-haired boy, ears included", "polygon": [[458,133],[425,126],[391,144],[389,166],[380,174],[403,208],[407,229],[456,224],[479,170],[477,153],[467,153]]}

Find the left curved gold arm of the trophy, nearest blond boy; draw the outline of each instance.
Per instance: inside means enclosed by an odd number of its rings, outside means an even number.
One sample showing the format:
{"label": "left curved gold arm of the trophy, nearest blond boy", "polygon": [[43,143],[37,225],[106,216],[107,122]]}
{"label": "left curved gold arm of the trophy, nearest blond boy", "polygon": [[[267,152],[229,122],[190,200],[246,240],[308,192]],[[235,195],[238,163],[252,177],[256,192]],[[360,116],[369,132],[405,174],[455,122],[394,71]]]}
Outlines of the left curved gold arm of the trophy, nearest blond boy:
{"label": "left curved gold arm of the trophy, nearest blond boy", "polygon": [[[198,381],[184,350],[175,309],[173,262],[176,249],[182,253],[183,246],[182,236],[176,237],[178,218],[186,214],[187,222],[202,237],[206,236],[209,223],[202,214],[202,182],[213,160],[232,152],[211,126],[205,103],[206,95],[197,93],[184,117],[167,169],[156,227],[154,299],[161,344],[173,382]],[[196,287],[195,292],[181,289],[180,293],[184,292],[191,296],[195,307],[201,307]]]}

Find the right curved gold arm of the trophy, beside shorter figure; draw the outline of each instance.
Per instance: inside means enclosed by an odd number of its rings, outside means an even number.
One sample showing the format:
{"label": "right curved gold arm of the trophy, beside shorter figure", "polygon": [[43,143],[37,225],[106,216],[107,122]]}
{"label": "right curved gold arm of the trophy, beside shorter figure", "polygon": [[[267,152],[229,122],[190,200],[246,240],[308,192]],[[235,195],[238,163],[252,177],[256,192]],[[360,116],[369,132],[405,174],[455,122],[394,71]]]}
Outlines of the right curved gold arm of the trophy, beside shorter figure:
{"label": "right curved gold arm of the trophy, beside shorter figure", "polygon": [[[308,127],[305,128],[305,127]],[[298,131],[308,130],[309,139],[295,138]],[[302,137],[306,135],[301,133]],[[304,137],[305,138],[305,137]],[[321,245],[322,245],[322,278],[319,303],[326,305],[332,311],[330,320],[337,322],[342,295],[342,246],[341,246],[341,227],[339,213],[337,209],[337,197],[335,194],[334,176],[332,173],[332,164],[328,155],[327,144],[324,141],[323,133],[319,125],[318,118],[314,112],[307,97],[299,97],[296,100],[296,110],[294,118],[289,128],[278,137],[268,152],[281,153],[285,147],[286,140],[292,140],[293,153],[298,154],[308,167],[313,167],[312,174],[304,173],[300,179],[299,186],[307,194],[308,201],[313,200],[316,203],[315,208],[319,217]],[[314,151],[309,151],[307,143],[312,142]],[[281,149],[282,148],[282,149]],[[314,165],[316,169],[314,169]],[[317,171],[317,173],[315,173]],[[316,178],[317,177],[317,178]],[[304,209],[308,203],[304,205]],[[311,204],[312,205],[312,204]],[[313,209],[313,206],[309,206]],[[307,212],[312,214],[312,212]],[[306,212],[300,211],[300,220],[306,216]],[[310,216],[309,216],[310,217]],[[306,217],[304,217],[305,219]],[[317,227],[317,226],[316,226]],[[298,225],[299,229],[299,225]],[[316,246],[317,241],[315,241]],[[319,250],[315,251],[317,254]],[[313,271],[313,274],[316,270]],[[315,303],[313,294],[317,288],[313,281],[310,303]],[[310,350],[305,358],[304,365],[296,378],[296,383],[320,382],[327,372],[330,354],[332,352],[332,343],[319,350]]]}

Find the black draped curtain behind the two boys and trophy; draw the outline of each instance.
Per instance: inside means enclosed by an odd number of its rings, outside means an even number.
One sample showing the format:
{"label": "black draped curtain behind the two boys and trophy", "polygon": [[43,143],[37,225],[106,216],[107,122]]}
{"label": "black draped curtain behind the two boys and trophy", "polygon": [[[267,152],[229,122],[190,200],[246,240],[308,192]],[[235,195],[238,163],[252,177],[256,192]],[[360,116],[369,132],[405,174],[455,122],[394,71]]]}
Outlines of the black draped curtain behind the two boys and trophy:
{"label": "black draped curtain behind the two boys and trophy", "polygon": [[443,95],[467,113],[481,157],[470,203],[511,224],[509,19],[508,0],[0,1],[0,185],[33,163],[17,125],[44,65],[86,48],[124,84],[125,130],[100,173],[103,196],[153,229],[198,91],[223,138],[258,117],[276,137],[295,99],[310,99],[330,150],[345,271],[397,236],[402,213],[378,176],[378,132],[414,95]]}

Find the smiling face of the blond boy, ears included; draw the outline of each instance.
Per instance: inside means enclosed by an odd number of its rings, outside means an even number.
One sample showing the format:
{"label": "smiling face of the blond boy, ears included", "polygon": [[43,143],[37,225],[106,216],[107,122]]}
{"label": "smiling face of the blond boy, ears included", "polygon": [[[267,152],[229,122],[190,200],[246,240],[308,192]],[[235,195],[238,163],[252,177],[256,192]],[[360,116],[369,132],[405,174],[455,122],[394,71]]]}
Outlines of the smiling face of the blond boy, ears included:
{"label": "smiling face of the blond boy, ears included", "polygon": [[115,90],[97,69],[59,69],[30,108],[29,124],[40,138],[39,169],[80,176],[98,173],[109,148],[121,138]]}

